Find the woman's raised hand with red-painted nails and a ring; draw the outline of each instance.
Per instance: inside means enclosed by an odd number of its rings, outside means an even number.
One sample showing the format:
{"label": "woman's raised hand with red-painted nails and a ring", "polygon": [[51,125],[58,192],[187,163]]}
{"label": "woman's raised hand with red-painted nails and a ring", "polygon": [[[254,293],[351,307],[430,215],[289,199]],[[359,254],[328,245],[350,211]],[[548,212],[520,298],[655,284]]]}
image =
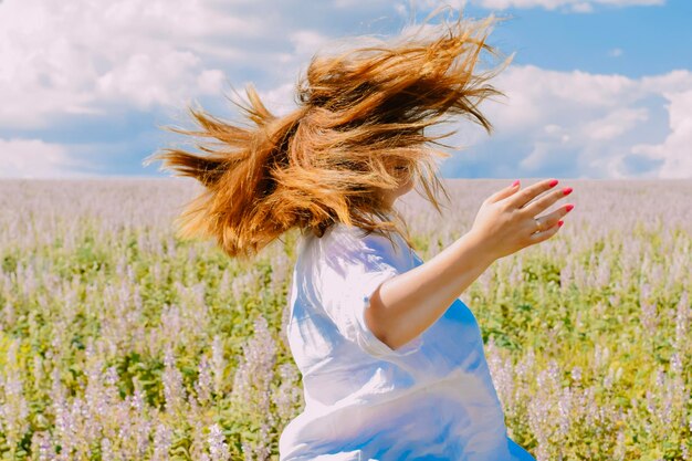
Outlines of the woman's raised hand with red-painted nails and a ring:
{"label": "woman's raised hand with red-painted nails and a ring", "polygon": [[549,239],[562,226],[560,218],[574,208],[573,205],[565,205],[538,217],[538,213],[572,192],[572,188],[566,187],[536,198],[553,189],[557,182],[557,179],[546,179],[521,189],[517,180],[499,190],[483,201],[470,233],[494,259]]}

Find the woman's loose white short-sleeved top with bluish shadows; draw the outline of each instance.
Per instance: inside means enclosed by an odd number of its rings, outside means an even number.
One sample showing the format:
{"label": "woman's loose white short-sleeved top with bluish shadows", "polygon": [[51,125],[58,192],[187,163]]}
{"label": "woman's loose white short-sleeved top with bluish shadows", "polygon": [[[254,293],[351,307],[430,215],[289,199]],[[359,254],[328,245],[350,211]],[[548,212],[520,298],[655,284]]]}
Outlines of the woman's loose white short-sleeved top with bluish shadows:
{"label": "woman's loose white short-sleeved top with bluish shadows", "polygon": [[422,264],[406,241],[346,224],[302,235],[289,344],[305,409],[284,428],[280,461],[533,460],[507,437],[475,317],[457,298],[391,349],[367,327],[369,295]]}

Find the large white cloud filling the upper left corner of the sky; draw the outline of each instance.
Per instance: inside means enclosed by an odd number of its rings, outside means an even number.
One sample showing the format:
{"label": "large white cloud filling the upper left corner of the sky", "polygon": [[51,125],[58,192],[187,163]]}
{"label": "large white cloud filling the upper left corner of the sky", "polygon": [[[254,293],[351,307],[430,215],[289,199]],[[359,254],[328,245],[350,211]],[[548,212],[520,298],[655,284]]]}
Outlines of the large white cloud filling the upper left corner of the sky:
{"label": "large white cloud filling the upper left corner of the sky", "polygon": [[252,74],[259,86],[272,70],[296,75],[329,32],[311,19],[326,7],[304,7],[297,0],[271,8],[248,0],[4,0],[0,124],[50,127],[64,114],[107,116],[114,106],[175,109],[221,96],[239,74]]}

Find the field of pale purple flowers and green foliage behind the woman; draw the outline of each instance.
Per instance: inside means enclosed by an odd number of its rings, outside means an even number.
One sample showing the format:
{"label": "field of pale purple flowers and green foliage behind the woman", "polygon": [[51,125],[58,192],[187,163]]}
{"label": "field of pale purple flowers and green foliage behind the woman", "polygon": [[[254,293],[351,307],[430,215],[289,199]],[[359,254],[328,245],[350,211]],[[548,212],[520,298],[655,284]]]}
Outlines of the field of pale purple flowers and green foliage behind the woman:
{"label": "field of pale purple flowers and green foliage behind the woman", "polygon": [[[418,254],[510,182],[449,180],[441,219],[406,196]],[[560,231],[460,296],[510,436],[539,461],[692,459],[692,181],[560,185]],[[283,331],[297,233],[253,264],[178,241],[197,190],[0,181],[0,459],[279,459],[304,405]]]}

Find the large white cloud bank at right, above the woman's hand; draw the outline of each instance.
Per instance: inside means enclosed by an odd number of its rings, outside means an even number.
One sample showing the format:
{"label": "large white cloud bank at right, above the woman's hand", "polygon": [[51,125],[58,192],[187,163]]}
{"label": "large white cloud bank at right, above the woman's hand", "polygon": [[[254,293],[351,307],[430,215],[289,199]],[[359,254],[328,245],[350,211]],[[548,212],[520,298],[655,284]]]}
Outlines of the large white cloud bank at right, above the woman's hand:
{"label": "large white cloud bank at right, above the woman's hand", "polygon": [[[514,165],[517,174],[531,176],[562,168],[565,174],[583,177],[692,178],[689,71],[629,78],[512,65],[493,85],[507,98],[499,99],[500,104],[484,103],[484,114],[495,132],[487,138],[474,128],[475,149],[496,153],[507,146],[525,147],[523,153],[504,151],[501,163],[489,157],[489,174]],[[663,124],[651,118],[661,112],[662,98],[670,101],[663,107],[670,117],[668,135],[660,132]],[[663,140],[642,143],[656,138]],[[465,158],[461,154],[458,161],[464,164]],[[632,171],[628,164],[641,158],[651,165],[647,171]]]}

